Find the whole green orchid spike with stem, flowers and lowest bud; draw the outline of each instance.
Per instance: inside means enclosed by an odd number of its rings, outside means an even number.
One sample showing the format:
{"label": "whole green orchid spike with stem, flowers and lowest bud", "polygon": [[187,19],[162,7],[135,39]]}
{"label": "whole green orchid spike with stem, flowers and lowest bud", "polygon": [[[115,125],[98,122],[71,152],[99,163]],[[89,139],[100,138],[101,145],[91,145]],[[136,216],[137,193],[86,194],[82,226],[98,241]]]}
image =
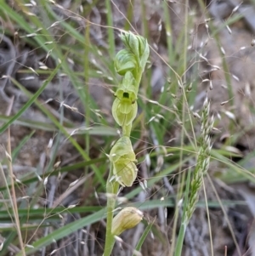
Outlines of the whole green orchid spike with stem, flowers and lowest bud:
{"label": "whole green orchid spike with stem, flowers and lowest bud", "polygon": [[116,54],[115,69],[123,77],[116,89],[116,99],[112,105],[112,116],[122,127],[122,137],[116,141],[110,152],[110,174],[106,184],[107,225],[104,256],[111,255],[115,243],[114,236],[124,230],[138,225],[143,218],[136,208],[124,208],[113,219],[116,205],[116,194],[119,185],[132,186],[137,177],[137,162],[130,140],[132,123],[137,115],[139,83],[148,60],[150,49],[144,37],[136,36],[131,32],[123,32],[122,42],[126,46]]}

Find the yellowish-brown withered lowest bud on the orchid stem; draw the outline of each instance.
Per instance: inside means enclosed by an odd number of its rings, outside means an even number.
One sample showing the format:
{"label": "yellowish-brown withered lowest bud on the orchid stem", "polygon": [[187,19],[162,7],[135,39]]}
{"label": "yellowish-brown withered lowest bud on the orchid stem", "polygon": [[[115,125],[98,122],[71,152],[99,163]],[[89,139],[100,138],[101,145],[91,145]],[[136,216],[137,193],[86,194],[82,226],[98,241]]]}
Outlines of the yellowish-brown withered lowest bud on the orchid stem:
{"label": "yellowish-brown withered lowest bud on the orchid stem", "polygon": [[119,236],[123,231],[132,229],[143,219],[144,214],[137,208],[122,209],[112,220],[111,233]]}

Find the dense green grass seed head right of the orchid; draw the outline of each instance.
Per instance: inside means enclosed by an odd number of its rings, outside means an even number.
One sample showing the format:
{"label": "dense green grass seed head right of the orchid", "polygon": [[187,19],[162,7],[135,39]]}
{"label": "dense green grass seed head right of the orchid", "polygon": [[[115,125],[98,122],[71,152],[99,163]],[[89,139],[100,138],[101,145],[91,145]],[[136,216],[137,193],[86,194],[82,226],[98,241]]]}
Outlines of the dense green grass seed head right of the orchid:
{"label": "dense green grass seed head right of the orchid", "polygon": [[195,204],[198,201],[199,191],[202,185],[202,177],[207,174],[210,162],[211,139],[210,133],[213,127],[213,117],[209,117],[210,102],[206,98],[201,114],[201,138],[200,150],[197,156],[197,164],[190,183],[190,200],[186,208],[186,221],[188,222],[195,211]]}

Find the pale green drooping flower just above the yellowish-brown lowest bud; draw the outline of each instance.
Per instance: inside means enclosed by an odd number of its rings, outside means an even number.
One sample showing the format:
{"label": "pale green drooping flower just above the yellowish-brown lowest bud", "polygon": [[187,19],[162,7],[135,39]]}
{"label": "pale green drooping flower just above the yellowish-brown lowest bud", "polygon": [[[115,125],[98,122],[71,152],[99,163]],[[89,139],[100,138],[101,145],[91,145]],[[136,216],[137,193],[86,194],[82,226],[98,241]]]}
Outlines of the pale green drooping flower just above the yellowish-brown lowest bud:
{"label": "pale green drooping flower just above the yellowish-brown lowest bud", "polygon": [[127,136],[122,136],[112,147],[110,161],[113,164],[116,181],[122,186],[132,186],[137,177],[137,168],[132,144]]}

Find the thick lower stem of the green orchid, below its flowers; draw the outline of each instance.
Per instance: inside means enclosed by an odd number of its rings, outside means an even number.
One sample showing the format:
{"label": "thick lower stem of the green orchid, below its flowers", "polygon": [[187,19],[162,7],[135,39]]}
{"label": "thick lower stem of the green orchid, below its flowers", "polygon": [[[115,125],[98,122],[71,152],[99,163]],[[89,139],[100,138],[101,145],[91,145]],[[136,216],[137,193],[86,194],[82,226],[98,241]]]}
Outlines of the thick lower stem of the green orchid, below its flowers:
{"label": "thick lower stem of the green orchid, below its flowers", "polygon": [[115,238],[111,234],[111,225],[113,219],[113,211],[116,205],[116,194],[119,189],[119,184],[116,181],[111,181],[113,175],[113,166],[111,163],[110,173],[107,179],[106,192],[107,192],[107,219],[106,219],[106,238],[104,256],[110,256],[112,248],[115,243]]}

